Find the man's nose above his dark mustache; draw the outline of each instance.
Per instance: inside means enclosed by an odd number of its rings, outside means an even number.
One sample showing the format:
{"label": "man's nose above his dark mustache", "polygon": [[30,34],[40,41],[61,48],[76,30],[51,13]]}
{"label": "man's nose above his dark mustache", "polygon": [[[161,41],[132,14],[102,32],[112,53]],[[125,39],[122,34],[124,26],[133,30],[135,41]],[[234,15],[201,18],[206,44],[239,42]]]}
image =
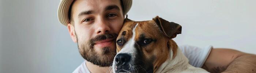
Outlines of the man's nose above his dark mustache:
{"label": "man's nose above his dark mustache", "polygon": [[96,30],[97,34],[105,34],[106,32],[109,32],[111,30],[110,24],[104,19],[99,20],[99,23],[97,23],[96,29],[97,29]]}

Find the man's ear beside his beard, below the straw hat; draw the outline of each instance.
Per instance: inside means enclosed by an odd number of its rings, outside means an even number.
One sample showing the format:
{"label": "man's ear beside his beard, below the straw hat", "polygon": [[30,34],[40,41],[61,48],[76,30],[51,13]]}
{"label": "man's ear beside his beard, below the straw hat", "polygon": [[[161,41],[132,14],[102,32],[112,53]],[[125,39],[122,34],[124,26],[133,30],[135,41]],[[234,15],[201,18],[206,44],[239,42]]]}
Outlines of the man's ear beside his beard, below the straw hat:
{"label": "man's ear beside his beard, below the straw hat", "polygon": [[67,27],[68,27],[68,32],[69,32],[69,35],[70,35],[72,41],[77,43],[75,27],[72,24],[70,24],[70,23],[68,23]]}

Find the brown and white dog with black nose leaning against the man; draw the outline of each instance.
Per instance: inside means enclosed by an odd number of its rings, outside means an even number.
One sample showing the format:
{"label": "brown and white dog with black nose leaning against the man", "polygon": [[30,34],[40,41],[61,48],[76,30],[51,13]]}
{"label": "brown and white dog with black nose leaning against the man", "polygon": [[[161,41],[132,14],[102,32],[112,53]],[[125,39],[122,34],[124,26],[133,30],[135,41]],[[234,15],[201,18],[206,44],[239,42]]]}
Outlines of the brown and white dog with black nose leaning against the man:
{"label": "brown and white dog with black nose leaning against the man", "polygon": [[114,73],[208,73],[188,64],[172,40],[181,34],[181,26],[158,16],[135,22],[125,18],[117,37]]}

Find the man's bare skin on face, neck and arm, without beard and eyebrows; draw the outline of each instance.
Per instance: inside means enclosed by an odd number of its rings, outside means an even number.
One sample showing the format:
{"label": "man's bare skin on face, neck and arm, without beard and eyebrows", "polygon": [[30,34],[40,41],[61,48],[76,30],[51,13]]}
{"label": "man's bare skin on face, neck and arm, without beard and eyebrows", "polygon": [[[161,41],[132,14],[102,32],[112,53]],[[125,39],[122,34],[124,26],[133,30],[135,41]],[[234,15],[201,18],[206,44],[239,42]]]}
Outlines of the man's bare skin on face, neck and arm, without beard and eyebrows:
{"label": "man's bare skin on face, neck and arm, without beard and eyebrows", "polygon": [[[105,7],[109,5],[117,5],[120,10],[106,11]],[[78,16],[81,12],[88,10],[92,10],[92,14]],[[73,22],[68,23],[67,26],[72,41],[85,42],[106,32],[118,34],[124,22],[122,13],[120,0],[76,0],[71,13]],[[83,20],[88,22],[83,22]],[[110,47],[111,51],[116,50],[116,44],[113,41],[94,45],[97,53],[102,52],[102,47]],[[99,67],[91,62],[86,62],[86,65],[91,73],[106,73],[109,69],[109,67]],[[216,73],[223,71],[224,73],[255,73],[256,55],[232,49],[212,49],[203,69]]]}

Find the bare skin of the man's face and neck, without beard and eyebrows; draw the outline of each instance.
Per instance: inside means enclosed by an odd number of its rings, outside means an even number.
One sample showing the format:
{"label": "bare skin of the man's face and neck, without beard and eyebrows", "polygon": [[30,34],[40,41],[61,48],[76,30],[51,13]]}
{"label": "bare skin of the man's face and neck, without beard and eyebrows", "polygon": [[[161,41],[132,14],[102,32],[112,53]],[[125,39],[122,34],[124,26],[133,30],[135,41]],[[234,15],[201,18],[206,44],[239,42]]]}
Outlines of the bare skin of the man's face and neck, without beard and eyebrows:
{"label": "bare skin of the man's face and neck, without beard and eyebrows", "polygon": [[[120,10],[105,10],[109,5],[116,5]],[[84,11],[93,12],[79,16]],[[106,32],[118,34],[124,21],[122,13],[120,0],[76,0],[72,6],[74,24],[69,23],[67,26],[71,39],[73,42],[82,42],[89,41],[89,39]],[[94,45],[97,53],[102,52],[102,47],[110,47],[112,51],[116,50],[116,44],[113,41]],[[90,62],[86,62],[86,65],[92,73],[106,73],[109,69],[109,67],[99,67]]]}

